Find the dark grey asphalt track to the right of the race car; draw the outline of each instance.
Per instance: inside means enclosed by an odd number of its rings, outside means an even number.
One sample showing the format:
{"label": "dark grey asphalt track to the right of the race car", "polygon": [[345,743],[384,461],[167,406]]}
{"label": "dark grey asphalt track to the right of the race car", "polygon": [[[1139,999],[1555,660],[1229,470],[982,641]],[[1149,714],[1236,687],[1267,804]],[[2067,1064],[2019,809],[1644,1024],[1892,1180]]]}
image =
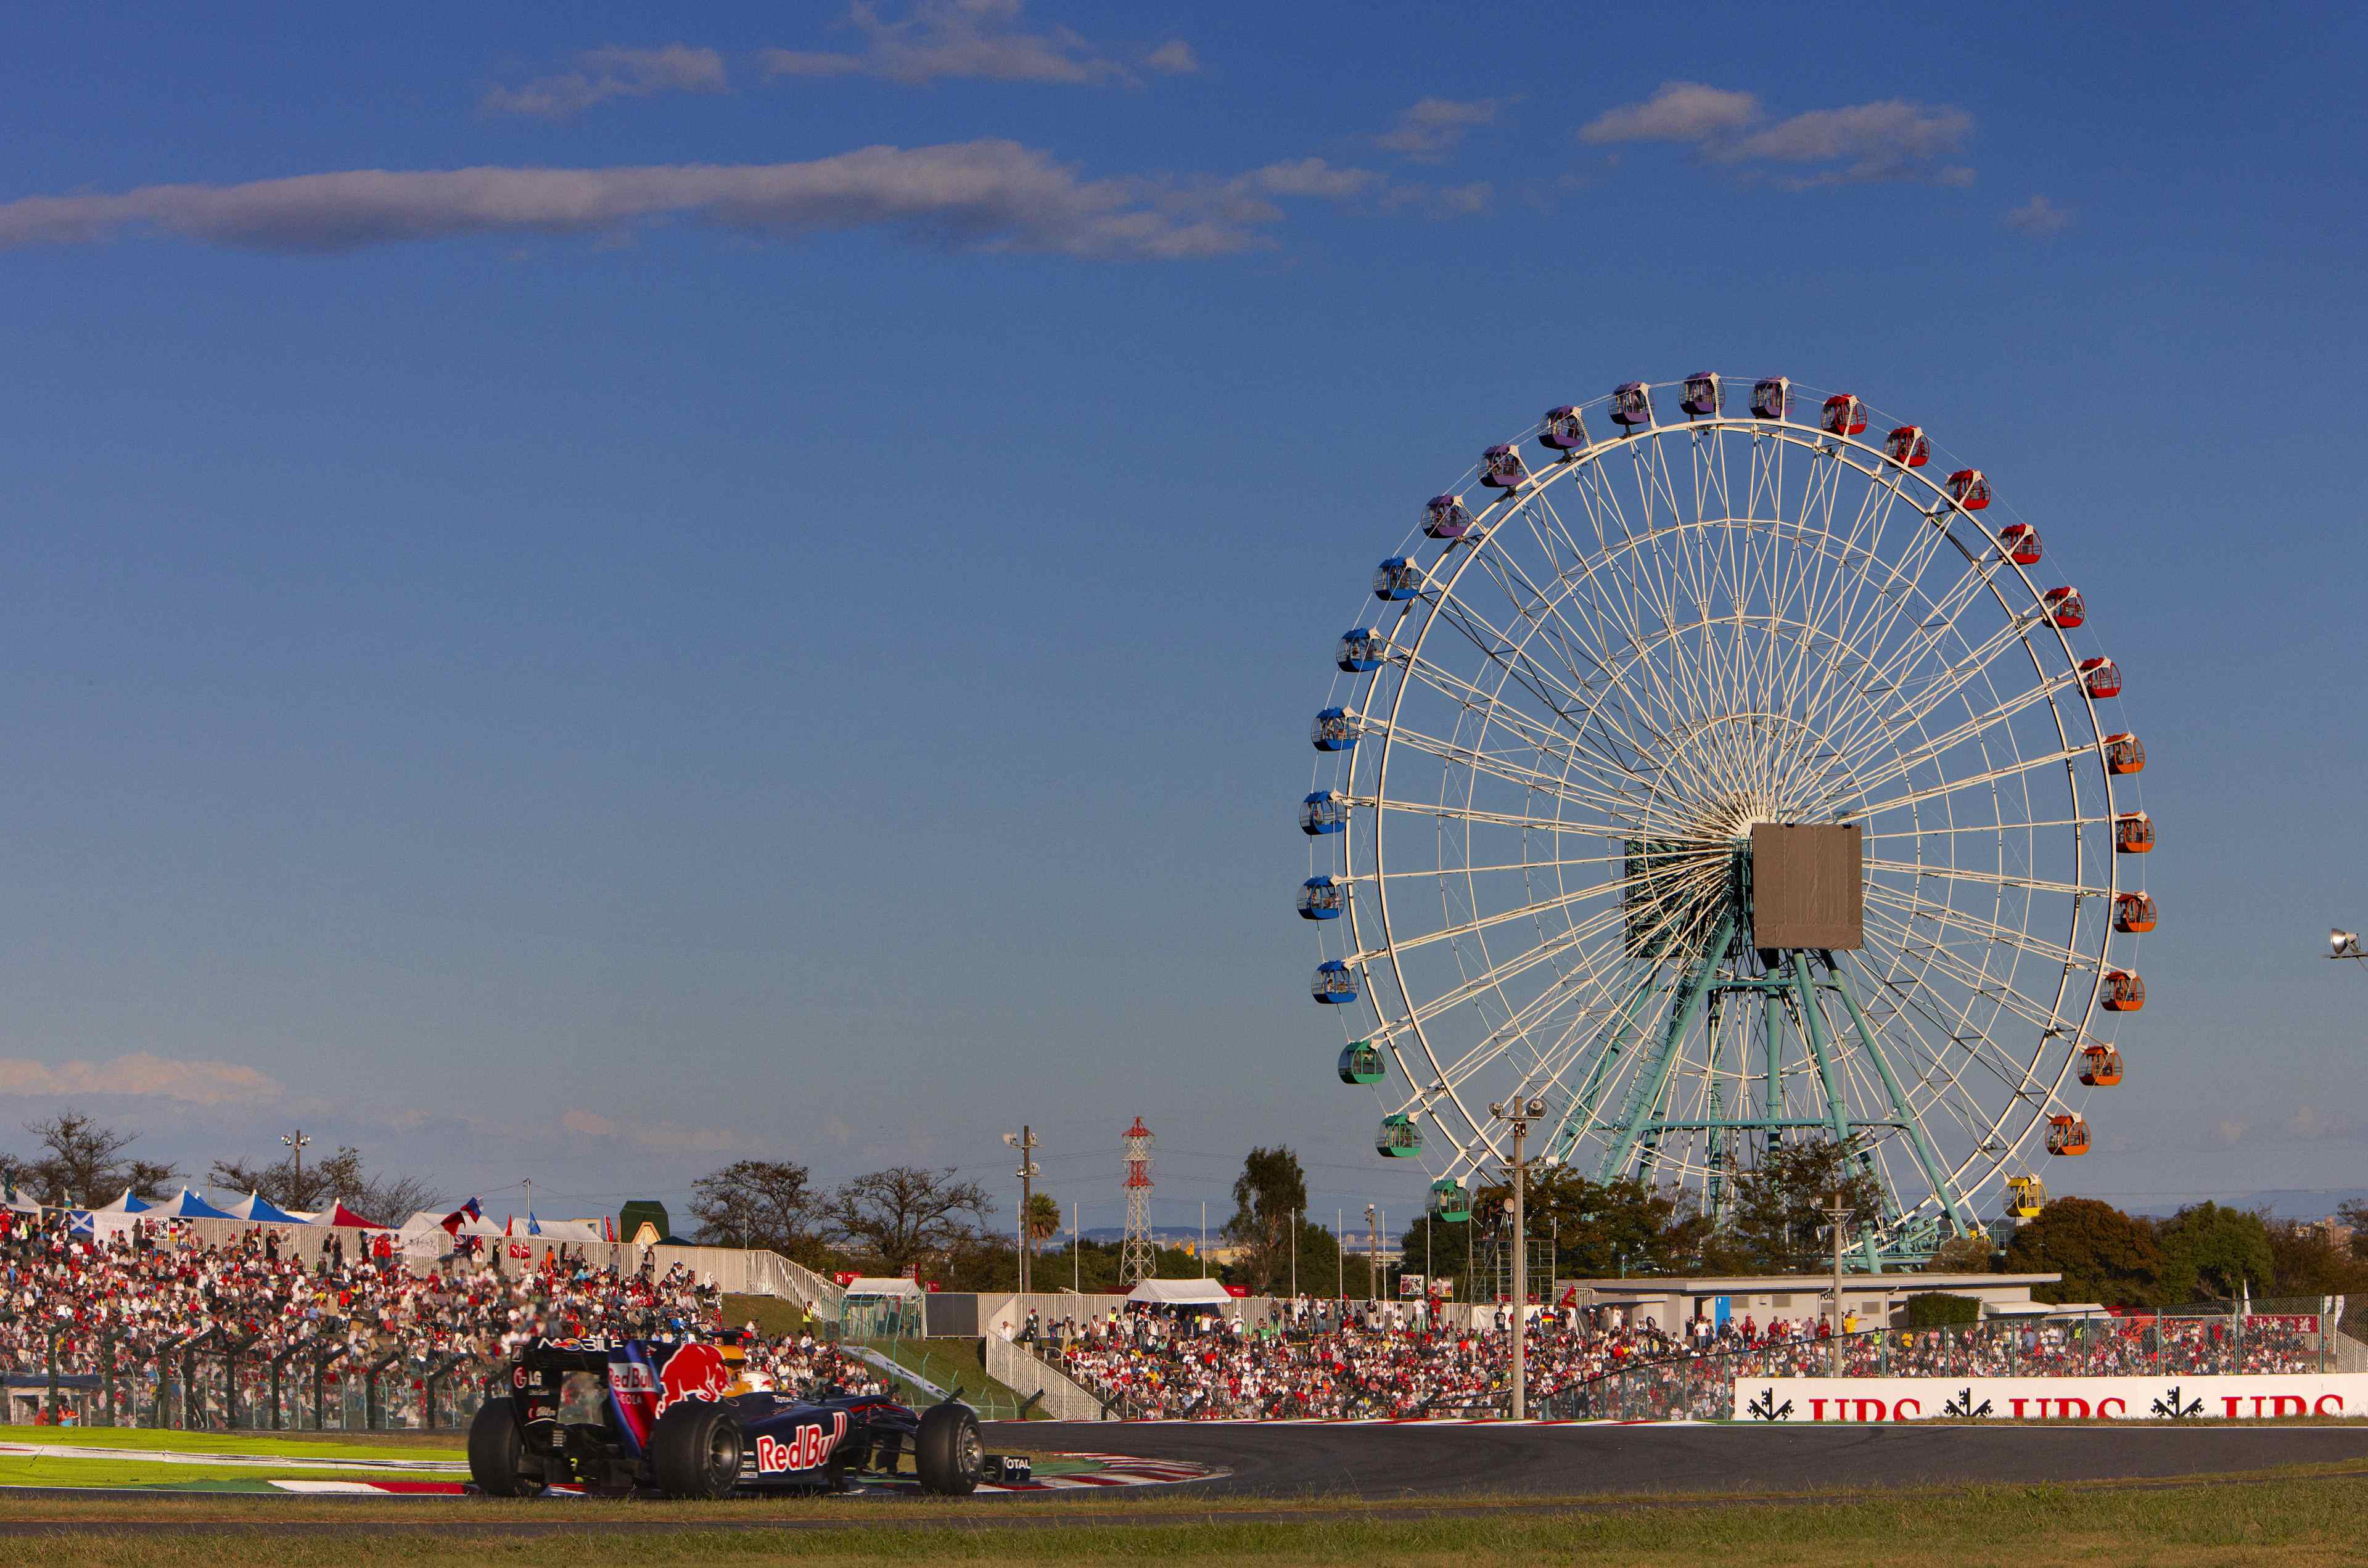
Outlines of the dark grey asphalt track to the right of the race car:
{"label": "dark grey asphalt track to the right of the race car", "polygon": [[[1030,1421],[987,1447],[1191,1459],[1175,1497],[1634,1497],[2034,1480],[2169,1480],[2368,1459],[2359,1426],[1224,1426]],[[1111,1497],[1103,1492],[1101,1497]]]}

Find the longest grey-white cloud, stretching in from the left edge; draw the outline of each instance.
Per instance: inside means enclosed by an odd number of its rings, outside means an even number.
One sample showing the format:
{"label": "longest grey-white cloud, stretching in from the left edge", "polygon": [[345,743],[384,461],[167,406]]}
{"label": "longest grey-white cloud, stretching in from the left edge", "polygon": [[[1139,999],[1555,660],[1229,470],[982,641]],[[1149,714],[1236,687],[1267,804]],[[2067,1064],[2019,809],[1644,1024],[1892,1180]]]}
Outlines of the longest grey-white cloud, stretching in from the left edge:
{"label": "longest grey-white cloud, stretching in from the left edge", "polygon": [[[1310,180],[1272,175],[1267,194]],[[1343,178],[1345,171],[1343,171]],[[1175,185],[1085,180],[1018,142],[864,147],[807,163],[452,168],[147,185],[0,204],[0,249],[166,232],[249,251],[334,253],[462,234],[613,234],[687,218],[760,234],[881,227],[924,244],[1094,258],[1201,258],[1265,242],[1281,213],[1257,175]]]}

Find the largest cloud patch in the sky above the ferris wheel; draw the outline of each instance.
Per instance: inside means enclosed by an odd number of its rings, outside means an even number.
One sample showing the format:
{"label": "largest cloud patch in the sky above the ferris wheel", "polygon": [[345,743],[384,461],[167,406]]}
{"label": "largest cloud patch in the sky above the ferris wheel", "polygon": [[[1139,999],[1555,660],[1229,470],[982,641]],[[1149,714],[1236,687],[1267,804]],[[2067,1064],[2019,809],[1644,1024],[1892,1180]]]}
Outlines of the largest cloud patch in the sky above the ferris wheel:
{"label": "largest cloud patch in the sky above the ferris wheel", "polygon": [[1745,163],[1826,163],[1781,185],[1812,189],[1861,180],[1935,180],[1970,185],[1973,168],[1942,166],[1973,135],[1973,116],[1951,104],[1887,97],[1842,109],[1809,109],[1767,123],[1757,92],[1693,81],[1662,83],[1641,104],[1620,104],[1579,128],[1582,142],[1677,142],[1703,159]]}

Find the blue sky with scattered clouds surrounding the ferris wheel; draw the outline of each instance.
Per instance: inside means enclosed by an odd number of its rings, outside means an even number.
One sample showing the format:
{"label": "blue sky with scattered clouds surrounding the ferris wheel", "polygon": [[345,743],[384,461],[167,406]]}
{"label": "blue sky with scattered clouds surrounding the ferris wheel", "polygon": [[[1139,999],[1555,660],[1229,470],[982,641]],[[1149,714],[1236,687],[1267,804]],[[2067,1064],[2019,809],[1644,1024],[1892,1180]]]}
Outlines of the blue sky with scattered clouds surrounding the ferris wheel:
{"label": "blue sky with scattered clouds surrounding the ferris wheel", "polygon": [[1141,1113],[1163,1220],[1276,1139],[1411,1213],[1291,917],[1331,637],[1717,365],[1977,457],[2131,680],[2055,1187],[2368,1184],[2354,12],[424,21],[12,21],[5,1125],[573,1213],[1032,1120],[1111,1225]]}

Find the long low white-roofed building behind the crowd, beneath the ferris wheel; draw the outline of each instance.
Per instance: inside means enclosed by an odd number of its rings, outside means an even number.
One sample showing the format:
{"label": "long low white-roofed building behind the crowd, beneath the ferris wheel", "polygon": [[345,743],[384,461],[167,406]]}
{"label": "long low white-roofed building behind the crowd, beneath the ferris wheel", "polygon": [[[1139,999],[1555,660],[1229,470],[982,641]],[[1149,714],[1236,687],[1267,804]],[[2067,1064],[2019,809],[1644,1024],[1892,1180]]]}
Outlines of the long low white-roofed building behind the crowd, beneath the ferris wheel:
{"label": "long low white-roofed building behind the crowd, beneath the ferris wheel", "polygon": [[[2053,1312],[2032,1300],[2032,1289],[2063,1274],[1842,1274],[1842,1312],[1861,1326],[1906,1322],[1916,1296],[1973,1296],[1982,1317],[2029,1317]],[[1556,1279],[1556,1305],[1615,1307],[1629,1324],[1655,1324],[1677,1334],[1698,1317],[1757,1324],[1769,1319],[1823,1317],[1830,1312],[1833,1274],[1731,1274],[1650,1279]]]}

